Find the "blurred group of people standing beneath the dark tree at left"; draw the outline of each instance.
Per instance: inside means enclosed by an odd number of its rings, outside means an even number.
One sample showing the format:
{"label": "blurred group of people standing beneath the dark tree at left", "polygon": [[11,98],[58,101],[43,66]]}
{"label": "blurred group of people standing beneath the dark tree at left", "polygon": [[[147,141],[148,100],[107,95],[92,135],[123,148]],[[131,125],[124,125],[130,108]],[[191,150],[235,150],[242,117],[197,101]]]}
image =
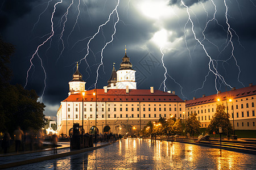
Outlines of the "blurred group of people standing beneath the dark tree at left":
{"label": "blurred group of people standing beneath the dark tree at left", "polygon": [[38,130],[37,133],[34,132],[32,128],[28,128],[25,133],[18,126],[13,133],[13,139],[11,139],[10,134],[6,131],[3,135],[3,140],[1,143],[1,147],[3,148],[3,153],[6,154],[9,151],[11,144],[15,142],[15,152],[26,151],[26,150],[34,150],[42,148],[42,130]]}

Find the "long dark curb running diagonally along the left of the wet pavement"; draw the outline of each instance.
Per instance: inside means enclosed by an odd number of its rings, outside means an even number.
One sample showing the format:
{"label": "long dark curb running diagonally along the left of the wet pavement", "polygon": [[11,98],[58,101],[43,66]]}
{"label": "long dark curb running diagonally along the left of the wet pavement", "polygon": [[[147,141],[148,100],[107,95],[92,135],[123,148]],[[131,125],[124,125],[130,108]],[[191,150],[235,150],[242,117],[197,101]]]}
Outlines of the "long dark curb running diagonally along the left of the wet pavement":
{"label": "long dark curb running diagonally along the left of the wet pavement", "polygon": [[[114,143],[114,142],[112,142],[112,143]],[[19,161],[19,162],[2,164],[2,165],[0,165],[0,169],[11,168],[11,167],[16,167],[16,166],[25,165],[25,164],[31,164],[31,163],[37,163],[37,162],[42,162],[44,160],[57,159],[57,158],[62,158],[62,157],[69,156],[69,155],[80,154],[82,152],[93,151],[93,150],[96,150],[96,149],[101,148],[101,147],[112,145],[112,143],[107,143],[105,145],[96,146],[96,147],[84,148],[84,149],[81,149],[81,150],[64,152],[64,153],[61,153],[61,154],[48,155],[48,156],[43,156],[43,157],[40,157],[40,158],[34,158],[34,159],[29,159],[29,160],[22,160],[22,161]]]}

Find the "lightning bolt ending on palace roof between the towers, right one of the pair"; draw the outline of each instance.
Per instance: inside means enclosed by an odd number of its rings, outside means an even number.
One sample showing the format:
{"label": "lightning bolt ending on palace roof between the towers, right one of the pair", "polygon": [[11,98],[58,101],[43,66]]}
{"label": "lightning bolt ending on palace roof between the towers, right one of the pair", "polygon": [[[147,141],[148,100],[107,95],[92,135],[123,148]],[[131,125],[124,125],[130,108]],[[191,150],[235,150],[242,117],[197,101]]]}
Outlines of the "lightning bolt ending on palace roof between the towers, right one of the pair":
{"label": "lightning bolt ending on palace roof between the towers, right one of the pair", "polygon": [[115,27],[116,27],[117,23],[119,22],[119,15],[118,15],[118,12],[117,12],[117,7],[118,7],[118,5],[119,5],[119,0],[118,0],[118,2],[117,2],[117,5],[115,6],[114,10],[112,11],[112,13],[109,15],[109,20],[110,20],[111,15],[115,12],[115,14],[117,14],[117,21],[114,23],[114,32],[113,32],[113,34],[112,34],[112,36],[111,36],[111,40],[108,41],[108,42],[104,45],[104,47],[101,49],[101,63],[100,63],[100,65],[98,65],[98,68],[97,68],[96,82],[94,83],[94,87],[95,87],[95,88],[97,88],[98,70],[100,69],[100,66],[103,67],[103,71],[104,71],[103,51],[104,51],[104,49],[106,48],[106,46],[107,46],[108,44],[110,44],[110,43],[114,40],[114,35],[115,35],[115,32],[117,31],[117,29],[116,29]]}

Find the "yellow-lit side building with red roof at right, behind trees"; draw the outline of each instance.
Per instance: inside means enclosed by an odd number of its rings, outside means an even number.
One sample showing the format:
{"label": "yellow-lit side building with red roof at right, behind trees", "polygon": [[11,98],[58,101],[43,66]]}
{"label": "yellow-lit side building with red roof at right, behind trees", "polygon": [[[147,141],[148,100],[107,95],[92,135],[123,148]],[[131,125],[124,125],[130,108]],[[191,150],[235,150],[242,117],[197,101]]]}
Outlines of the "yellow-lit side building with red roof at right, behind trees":
{"label": "yellow-lit side building with red roof at right, behind trees", "polygon": [[215,95],[203,95],[198,99],[194,97],[193,100],[186,101],[186,116],[197,113],[201,128],[207,128],[216,112],[217,104],[224,104],[235,130],[256,130],[255,102],[256,86],[249,84],[249,87],[232,88],[231,91],[219,91]]}

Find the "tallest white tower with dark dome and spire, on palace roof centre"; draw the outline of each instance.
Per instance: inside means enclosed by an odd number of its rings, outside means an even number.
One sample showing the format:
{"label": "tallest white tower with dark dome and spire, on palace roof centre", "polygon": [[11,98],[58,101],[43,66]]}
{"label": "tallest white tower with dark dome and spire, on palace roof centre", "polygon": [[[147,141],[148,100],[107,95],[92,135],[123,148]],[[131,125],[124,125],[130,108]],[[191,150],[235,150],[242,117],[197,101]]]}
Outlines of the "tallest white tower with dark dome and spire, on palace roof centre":
{"label": "tallest white tower with dark dome and spire, on palace roof centre", "polygon": [[137,89],[137,83],[135,82],[135,70],[131,67],[133,65],[130,62],[130,58],[127,57],[126,47],[125,56],[122,58],[122,63],[120,64],[120,69],[117,71],[117,89]]}

